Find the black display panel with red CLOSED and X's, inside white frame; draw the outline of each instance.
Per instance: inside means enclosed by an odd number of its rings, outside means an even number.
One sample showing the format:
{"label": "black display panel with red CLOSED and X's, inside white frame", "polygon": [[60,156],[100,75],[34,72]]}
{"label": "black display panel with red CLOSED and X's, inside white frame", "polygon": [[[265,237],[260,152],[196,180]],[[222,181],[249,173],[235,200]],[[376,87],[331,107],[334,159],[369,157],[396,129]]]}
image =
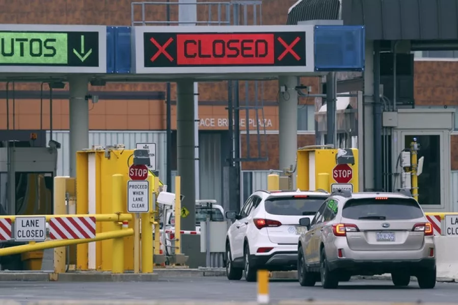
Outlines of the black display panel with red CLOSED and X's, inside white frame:
{"label": "black display panel with red CLOSED and X's, inside white frame", "polygon": [[144,67],[306,66],[306,33],[143,33]]}

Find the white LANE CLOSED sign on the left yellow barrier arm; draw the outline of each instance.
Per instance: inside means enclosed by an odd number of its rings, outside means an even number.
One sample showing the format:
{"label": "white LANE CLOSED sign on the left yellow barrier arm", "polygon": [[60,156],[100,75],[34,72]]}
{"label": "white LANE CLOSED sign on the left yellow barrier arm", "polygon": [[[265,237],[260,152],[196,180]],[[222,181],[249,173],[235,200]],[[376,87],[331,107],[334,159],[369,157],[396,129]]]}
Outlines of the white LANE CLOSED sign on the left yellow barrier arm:
{"label": "white LANE CLOSED sign on the left yellow barrier arm", "polygon": [[16,241],[44,241],[46,239],[45,217],[16,217],[14,223]]}

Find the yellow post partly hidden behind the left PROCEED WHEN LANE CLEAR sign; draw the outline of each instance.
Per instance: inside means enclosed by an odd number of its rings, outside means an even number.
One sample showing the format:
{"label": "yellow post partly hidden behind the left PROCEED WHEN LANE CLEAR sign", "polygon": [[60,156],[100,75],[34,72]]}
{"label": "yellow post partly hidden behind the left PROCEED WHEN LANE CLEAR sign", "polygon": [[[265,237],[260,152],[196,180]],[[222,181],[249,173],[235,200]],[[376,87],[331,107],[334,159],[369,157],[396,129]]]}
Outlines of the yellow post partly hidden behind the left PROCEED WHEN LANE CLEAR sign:
{"label": "yellow post partly hidden behind the left PROCEED WHEN LANE CLEAR sign", "polygon": [[153,227],[151,218],[153,217],[152,209],[152,189],[154,188],[153,175],[148,173],[149,181],[149,212],[142,213],[142,273],[153,272]]}

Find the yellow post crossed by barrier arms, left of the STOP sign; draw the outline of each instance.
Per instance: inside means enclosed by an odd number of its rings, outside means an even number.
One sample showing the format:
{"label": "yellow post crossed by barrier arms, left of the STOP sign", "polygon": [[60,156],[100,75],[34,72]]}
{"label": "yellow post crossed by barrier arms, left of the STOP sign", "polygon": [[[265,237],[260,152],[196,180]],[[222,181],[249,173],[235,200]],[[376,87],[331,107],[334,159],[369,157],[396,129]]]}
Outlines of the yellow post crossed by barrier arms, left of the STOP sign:
{"label": "yellow post crossed by barrier arms, left of the STOP sign", "polygon": [[[114,214],[121,214],[122,206],[122,187],[124,177],[121,174],[114,174],[112,176],[112,210]],[[115,223],[114,231],[122,230],[122,223]],[[124,272],[124,238],[113,238],[113,273]]]}

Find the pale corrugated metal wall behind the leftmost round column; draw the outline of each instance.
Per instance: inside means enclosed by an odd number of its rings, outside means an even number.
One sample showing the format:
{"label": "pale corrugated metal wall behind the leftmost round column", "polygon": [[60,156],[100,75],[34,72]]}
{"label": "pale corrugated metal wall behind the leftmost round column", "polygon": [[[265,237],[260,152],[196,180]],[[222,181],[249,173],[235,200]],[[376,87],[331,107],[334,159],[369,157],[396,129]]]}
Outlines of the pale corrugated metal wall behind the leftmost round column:
{"label": "pale corrugated metal wall behind the leftmost round column", "polygon": [[[46,132],[46,143],[49,141],[49,131]],[[70,174],[70,143],[69,131],[52,131],[52,139],[62,144],[58,155],[57,174],[68,176]],[[156,169],[159,178],[167,184],[166,179],[166,132],[165,131],[97,131],[89,132],[89,146],[124,144],[127,149],[134,149],[137,142],[156,143]],[[88,147],[89,148],[89,147]]]}

